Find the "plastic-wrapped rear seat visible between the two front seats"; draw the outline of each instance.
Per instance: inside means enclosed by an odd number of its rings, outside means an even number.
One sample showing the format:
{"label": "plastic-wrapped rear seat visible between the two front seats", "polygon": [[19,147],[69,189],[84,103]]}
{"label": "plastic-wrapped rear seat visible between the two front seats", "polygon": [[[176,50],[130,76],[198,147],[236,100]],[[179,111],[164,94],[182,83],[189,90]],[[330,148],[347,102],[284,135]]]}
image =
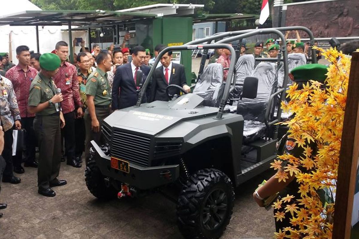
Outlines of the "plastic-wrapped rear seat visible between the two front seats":
{"label": "plastic-wrapped rear seat visible between the two front seats", "polygon": [[251,76],[254,71],[255,58],[252,54],[245,54],[238,58],[236,63],[236,84],[241,86],[235,86],[234,90],[230,94],[230,98],[238,99],[242,93],[243,82],[247,76]]}

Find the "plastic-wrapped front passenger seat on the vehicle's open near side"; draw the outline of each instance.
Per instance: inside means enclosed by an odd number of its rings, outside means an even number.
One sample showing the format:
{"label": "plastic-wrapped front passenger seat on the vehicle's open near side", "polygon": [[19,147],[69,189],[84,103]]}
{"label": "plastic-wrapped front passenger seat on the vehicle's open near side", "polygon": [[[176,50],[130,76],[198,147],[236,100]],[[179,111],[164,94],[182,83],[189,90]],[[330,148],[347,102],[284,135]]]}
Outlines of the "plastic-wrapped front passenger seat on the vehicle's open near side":
{"label": "plastic-wrapped front passenger seat on the vehicle's open near side", "polygon": [[244,119],[244,142],[252,142],[265,136],[265,112],[275,80],[275,63],[260,62],[252,77],[258,78],[258,91],[255,99],[242,99],[237,104],[237,114]]}

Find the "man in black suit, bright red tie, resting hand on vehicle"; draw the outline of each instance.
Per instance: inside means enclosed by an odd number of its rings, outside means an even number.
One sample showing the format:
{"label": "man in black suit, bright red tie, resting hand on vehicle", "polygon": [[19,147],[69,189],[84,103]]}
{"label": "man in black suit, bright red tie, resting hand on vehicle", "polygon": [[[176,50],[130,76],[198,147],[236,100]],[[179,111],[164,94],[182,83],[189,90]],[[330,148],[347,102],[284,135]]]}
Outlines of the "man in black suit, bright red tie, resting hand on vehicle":
{"label": "man in black suit, bright red tie, resting hand on vehicle", "polygon": [[[161,51],[165,49],[163,47]],[[166,52],[160,59],[162,66],[157,67],[152,84],[151,84],[151,101],[162,100],[168,101],[168,95],[166,94],[166,87],[168,85],[178,85],[183,87],[188,92],[191,88],[187,86],[185,67],[181,64],[172,62],[172,51]],[[169,94],[180,94],[180,90],[176,88],[169,89]]]}

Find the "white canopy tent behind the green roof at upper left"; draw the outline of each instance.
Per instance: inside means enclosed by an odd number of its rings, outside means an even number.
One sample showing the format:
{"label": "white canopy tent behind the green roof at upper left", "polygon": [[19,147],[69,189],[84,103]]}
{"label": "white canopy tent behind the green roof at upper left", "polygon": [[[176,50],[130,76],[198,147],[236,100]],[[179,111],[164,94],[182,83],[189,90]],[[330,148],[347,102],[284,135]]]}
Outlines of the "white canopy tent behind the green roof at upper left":
{"label": "white canopy tent behind the green roof at upper left", "polygon": [[[1,4],[0,17],[14,13],[20,13],[26,10],[41,10],[36,5],[28,0],[11,0]],[[3,14],[5,13],[5,14]],[[39,52],[51,52],[55,49],[55,44],[60,40],[69,43],[69,33],[62,29],[67,29],[67,26],[40,26],[39,28]],[[74,31],[72,33],[73,39],[81,37],[87,40],[85,31]],[[72,43],[71,43],[72,44]],[[36,27],[34,26],[0,26],[0,52],[9,52],[10,60],[17,64],[16,47],[26,45],[30,51],[37,52],[36,46]],[[75,52],[79,51],[75,49]]]}

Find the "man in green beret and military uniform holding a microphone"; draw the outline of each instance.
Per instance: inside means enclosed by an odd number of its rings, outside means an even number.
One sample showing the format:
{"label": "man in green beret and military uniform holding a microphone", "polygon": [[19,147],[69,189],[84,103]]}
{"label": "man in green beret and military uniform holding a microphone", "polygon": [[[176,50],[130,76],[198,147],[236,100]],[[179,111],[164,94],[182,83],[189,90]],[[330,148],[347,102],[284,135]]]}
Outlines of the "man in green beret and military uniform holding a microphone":
{"label": "man in green beret and military uniform holding a microphone", "polygon": [[38,193],[53,197],[56,193],[51,187],[62,186],[66,180],[59,180],[61,161],[61,130],[65,120],[61,112],[62,94],[56,90],[52,77],[61,64],[53,53],[42,54],[39,58],[41,71],[30,85],[28,111],[36,113],[34,130],[39,145],[39,164],[37,168]]}

